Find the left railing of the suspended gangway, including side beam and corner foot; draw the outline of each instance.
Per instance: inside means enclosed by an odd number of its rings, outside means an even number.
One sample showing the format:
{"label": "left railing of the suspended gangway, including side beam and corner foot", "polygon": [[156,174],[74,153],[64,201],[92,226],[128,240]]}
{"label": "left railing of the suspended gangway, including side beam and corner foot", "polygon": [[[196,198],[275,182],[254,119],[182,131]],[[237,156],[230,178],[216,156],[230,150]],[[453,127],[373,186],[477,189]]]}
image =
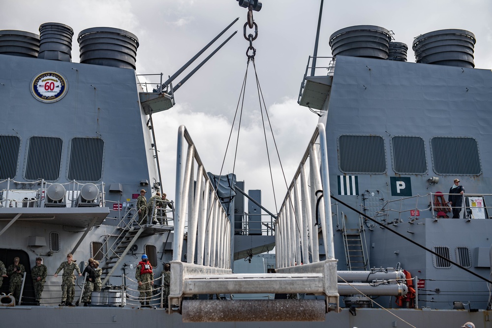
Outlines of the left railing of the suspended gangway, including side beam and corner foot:
{"label": "left railing of the suspended gangway, including side beam and corner foot", "polygon": [[[183,150],[186,146],[186,157],[183,158]],[[195,164],[197,165],[196,185],[194,184]],[[175,207],[169,304],[181,304],[184,296],[200,294],[199,290],[191,291],[189,286],[185,286],[189,275],[232,273],[231,222],[220,204],[213,183],[184,125],[180,126],[178,132]],[[186,221],[188,223],[187,262],[183,262]],[[171,311],[170,306],[169,312]]]}

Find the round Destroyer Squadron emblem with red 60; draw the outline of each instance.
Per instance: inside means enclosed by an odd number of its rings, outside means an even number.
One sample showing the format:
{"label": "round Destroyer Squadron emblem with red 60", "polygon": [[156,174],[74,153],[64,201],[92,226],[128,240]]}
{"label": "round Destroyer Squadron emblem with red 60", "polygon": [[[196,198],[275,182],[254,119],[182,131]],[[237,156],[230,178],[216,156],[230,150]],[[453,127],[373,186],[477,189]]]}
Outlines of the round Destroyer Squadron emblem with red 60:
{"label": "round Destroyer Squadron emblem with red 60", "polygon": [[41,73],[32,80],[31,93],[34,98],[42,102],[59,101],[67,90],[66,80],[55,72]]}

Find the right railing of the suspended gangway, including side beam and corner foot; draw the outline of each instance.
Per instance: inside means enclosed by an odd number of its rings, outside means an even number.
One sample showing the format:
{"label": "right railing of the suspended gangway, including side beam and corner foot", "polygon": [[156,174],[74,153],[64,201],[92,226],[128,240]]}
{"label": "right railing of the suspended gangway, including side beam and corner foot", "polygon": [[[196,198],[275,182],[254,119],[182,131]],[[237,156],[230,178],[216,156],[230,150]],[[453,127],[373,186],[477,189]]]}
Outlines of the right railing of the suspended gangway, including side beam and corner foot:
{"label": "right railing of the suspended gangway, including side beam and corner foot", "polygon": [[[318,139],[319,149],[316,149]],[[318,123],[276,221],[276,272],[315,274],[322,284],[313,294],[325,296],[326,312],[338,310],[337,260],[328,173],[325,126]],[[319,254],[319,228],[325,259]]]}

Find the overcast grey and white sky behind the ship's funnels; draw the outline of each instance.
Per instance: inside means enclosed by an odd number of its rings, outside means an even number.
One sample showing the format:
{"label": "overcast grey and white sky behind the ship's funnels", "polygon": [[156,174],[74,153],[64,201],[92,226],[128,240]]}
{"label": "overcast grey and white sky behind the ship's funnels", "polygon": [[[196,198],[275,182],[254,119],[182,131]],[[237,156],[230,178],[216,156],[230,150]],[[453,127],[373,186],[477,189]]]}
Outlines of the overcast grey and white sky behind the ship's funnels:
{"label": "overcast grey and white sky behind the ship's funnels", "polygon": [[[320,0],[264,0],[262,3],[261,11],[253,14],[258,25],[258,38],[253,42],[256,68],[290,183],[317,123],[317,117],[299,106],[297,99],[308,56],[313,53]],[[66,24],[74,30],[74,62],[79,61],[76,37],[81,30],[92,27],[128,30],[140,43],[137,73],[162,72],[167,77],[239,17],[205,56],[233,31],[238,33],[176,92],[176,106],[154,115],[164,189],[168,198],[174,199],[179,125],[184,124],[189,130],[206,170],[215,174],[220,171],[246,72],[248,42],[243,37],[246,14],[247,10],[236,0],[65,0],[56,4],[0,0],[0,30],[39,33],[43,23]],[[411,49],[414,37],[433,30],[463,29],[476,36],[476,68],[491,69],[491,17],[491,0],[326,0],[318,56],[331,56],[330,35],[353,25],[376,25],[392,30],[395,41],[408,45],[408,61],[415,61]],[[233,139],[235,145],[236,137]],[[273,150],[271,139],[269,148]],[[234,146],[228,150],[223,173],[233,170],[234,150]],[[270,157],[276,158],[275,151]],[[279,206],[286,188],[278,161],[274,164]],[[262,189],[262,203],[276,211],[252,67],[248,72],[235,173],[239,180],[246,181],[246,189]]]}

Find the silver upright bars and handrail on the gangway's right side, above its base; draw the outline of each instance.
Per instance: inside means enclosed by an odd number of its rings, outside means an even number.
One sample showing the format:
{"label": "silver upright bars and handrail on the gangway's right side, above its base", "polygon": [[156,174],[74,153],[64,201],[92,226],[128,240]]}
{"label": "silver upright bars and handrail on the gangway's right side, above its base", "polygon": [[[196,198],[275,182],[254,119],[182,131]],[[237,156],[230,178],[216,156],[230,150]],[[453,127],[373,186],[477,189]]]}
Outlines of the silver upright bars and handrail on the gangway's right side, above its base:
{"label": "silver upright bars and handrail on the gangway's right side, above its base", "polygon": [[[315,149],[318,137],[321,160],[318,160]],[[309,182],[306,172],[308,159]],[[319,262],[317,214],[321,221],[326,259],[335,259],[328,176],[325,126],[318,123],[276,220],[277,268]],[[320,190],[322,196],[318,196]]]}

